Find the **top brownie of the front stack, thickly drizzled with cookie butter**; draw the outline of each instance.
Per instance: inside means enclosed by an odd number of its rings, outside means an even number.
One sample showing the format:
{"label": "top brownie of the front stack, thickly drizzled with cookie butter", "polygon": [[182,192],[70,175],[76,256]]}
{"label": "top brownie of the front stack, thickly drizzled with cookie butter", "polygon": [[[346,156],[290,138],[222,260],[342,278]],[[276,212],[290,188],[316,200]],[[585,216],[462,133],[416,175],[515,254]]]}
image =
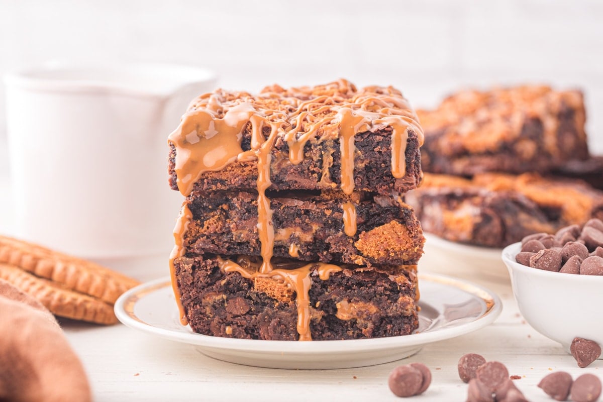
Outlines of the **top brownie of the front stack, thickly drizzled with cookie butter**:
{"label": "top brownie of the front stack, thickly drizzled with cookie butter", "polygon": [[420,184],[422,143],[417,116],[393,87],[216,90],[195,99],[170,134],[169,183],[183,195],[256,189],[261,170],[271,190],[402,193]]}

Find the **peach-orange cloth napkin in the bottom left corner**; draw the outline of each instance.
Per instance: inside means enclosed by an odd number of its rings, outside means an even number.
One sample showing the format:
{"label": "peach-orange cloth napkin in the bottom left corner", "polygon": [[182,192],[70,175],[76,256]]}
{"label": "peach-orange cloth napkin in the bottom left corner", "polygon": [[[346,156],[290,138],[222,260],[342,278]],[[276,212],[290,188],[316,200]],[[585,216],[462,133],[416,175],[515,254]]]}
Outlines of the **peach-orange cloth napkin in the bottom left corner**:
{"label": "peach-orange cloth napkin in the bottom left corner", "polygon": [[0,401],[92,400],[86,372],[54,316],[0,280]]}

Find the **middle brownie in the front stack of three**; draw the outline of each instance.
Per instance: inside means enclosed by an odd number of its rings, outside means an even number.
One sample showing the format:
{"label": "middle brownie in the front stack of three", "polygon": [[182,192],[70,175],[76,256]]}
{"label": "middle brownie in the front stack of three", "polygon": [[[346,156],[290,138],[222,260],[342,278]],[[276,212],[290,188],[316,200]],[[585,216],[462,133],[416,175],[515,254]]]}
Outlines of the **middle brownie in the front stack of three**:
{"label": "middle brownie in the front stack of three", "polygon": [[[425,239],[411,207],[391,196],[270,193],[274,257],[356,265],[414,265]],[[189,253],[260,255],[257,193],[192,193]],[[346,216],[352,207],[353,216]],[[347,233],[346,233],[347,232]]]}

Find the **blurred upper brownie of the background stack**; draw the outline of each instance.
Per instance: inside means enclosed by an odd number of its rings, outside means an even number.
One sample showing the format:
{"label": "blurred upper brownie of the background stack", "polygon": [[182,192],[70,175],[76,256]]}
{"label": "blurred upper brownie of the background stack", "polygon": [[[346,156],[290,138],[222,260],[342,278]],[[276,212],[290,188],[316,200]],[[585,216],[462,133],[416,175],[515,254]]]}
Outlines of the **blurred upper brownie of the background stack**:
{"label": "blurred upper brownie of the background stack", "polygon": [[426,172],[549,172],[588,155],[584,100],[577,90],[519,86],[466,90],[435,110],[417,110]]}

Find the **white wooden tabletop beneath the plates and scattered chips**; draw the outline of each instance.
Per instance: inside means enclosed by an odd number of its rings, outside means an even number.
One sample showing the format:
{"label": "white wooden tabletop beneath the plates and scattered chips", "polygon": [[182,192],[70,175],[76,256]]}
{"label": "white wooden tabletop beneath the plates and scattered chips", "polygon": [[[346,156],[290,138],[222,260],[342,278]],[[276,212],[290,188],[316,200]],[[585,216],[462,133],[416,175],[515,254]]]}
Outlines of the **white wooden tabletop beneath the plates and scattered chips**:
{"label": "white wooden tabletop beneath the plates and scattered chips", "polygon": [[[8,180],[0,175],[3,231],[10,228],[9,194]],[[428,268],[446,270],[444,266]],[[157,259],[129,273],[146,281],[166,276],[168,267]],[[464,277],[467,278],[467,272]],[[568,371],[574,378],[585,372],[603,377],[603,360],[580,369],[560,345],[526,324],[510,284],[472,279],[496,292],[503,301],[503,312],[494,324],[426,345],[419,353],[399,362],[364,368],[320,371],[255,368],[214,360],[191,345],[155,338],[121,324],[99,327],[62,321],[62,325],[84,363],[97,401],[394,401],[399,399],[387,386],[388,374],[395,366],[410,362],[425,363],[433,375],[428,391],[411,400],[464,401],[467,385],[458,378],[456,362],[469,352],[505,363],[511,375],[522,377],[516,380],[516,385],[531,401],[552,401],[536,386],[551,371]]]}

